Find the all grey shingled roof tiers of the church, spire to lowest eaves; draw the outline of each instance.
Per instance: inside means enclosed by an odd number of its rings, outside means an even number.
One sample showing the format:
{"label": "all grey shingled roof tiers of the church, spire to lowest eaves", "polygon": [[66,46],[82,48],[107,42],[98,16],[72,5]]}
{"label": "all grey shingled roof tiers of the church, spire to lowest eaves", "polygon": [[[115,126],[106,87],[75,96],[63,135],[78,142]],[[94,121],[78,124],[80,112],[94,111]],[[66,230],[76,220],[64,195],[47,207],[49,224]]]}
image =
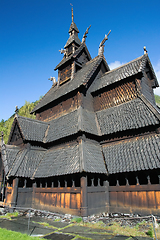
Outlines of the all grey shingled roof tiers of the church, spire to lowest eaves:
{"label": "all grey shingled roof tiers of the church, spire to lowest eaves", "polygon": [[[73,19],[70,33],[72,31],[78,33]],[[77,37],[76,34],[70,35],[67,44],[76,42],[75,36]],[[63,68],[66,61],[73,60],[83,51],[87,53],[89,61],[76,72],[73,79],[63,85],[54,85],[32,113],[41,112],[47,105],[63,101],[64,97],[67,99],[69,94],[80,90],[81,94],[83,90],[89,90],[87,94],[92,101],[97,91],[106,91],[114,83],[118,85],[122,80],[143,75],[146,65],[154,77],[154,86],[158,86],[147,54],[110,71],[103,54],[91,60],[85,43],[78,44],[79,48],[67,60],[63,58],[56,69]],[[105,66],[106,73],[97,75],[101,63]],[[17,115],[14,124],[19,126],[23,146],[3,144],[5,172],[8,177],[46,178],[82,172],[115,174],[160,168],[160,135],[156,131],[144,134],[144,129],[156,129],[159,123],[158,108],[142,93],[127,102],[95,112],[82,104],[49,122]],[[109,142],[113,136],[119,137],[123,133],[124,137],[125,132],[137,129],[143,129],[143,136],[140,136],[142,132],[139,131],[138,137],[132,136],[125,140],[119,138],[115,142],[112,139]],[[14,125],[10,140],[13,132]]]}

